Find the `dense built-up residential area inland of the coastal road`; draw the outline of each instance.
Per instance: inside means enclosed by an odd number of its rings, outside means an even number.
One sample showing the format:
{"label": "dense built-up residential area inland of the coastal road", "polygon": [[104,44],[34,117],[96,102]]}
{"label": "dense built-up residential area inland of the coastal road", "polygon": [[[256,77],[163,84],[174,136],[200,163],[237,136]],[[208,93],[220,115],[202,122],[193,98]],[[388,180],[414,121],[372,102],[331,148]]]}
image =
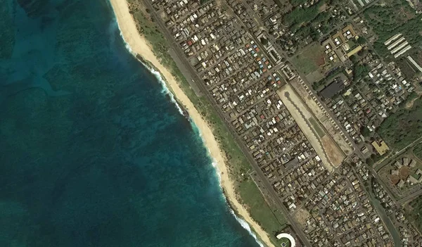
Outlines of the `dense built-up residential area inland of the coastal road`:
{"label": "dense built-up residential area inland of the coastal road", "polygon": [[[421,229],[407,218],[409,203],[421,195],[415,150],[422,136],[395,127],[422,121],[422,29],[407,24],[422,25],[419,1],[146,6],[298,243],[422,245]],[[406,20],[387,17],[393,8]],[[396,25],[388,33],[376,25],[386,18]]]}

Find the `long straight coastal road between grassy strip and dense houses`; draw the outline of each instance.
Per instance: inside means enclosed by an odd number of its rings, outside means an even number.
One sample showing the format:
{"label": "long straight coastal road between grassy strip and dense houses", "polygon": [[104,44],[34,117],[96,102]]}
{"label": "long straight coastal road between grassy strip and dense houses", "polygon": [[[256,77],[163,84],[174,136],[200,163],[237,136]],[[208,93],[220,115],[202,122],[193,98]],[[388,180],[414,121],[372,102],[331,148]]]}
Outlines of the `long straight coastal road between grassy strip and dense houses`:
{"label": "long straight coastal road between grassy strip and dense houses", "polygon": [[[208,101],[211,102],[212,107],[218,113],[219,118],[221,118],[224,121],[224,123],[226,124],[226,126],[229,127],[229,129],[231,131],[231,134],[233,134],[234,138],[236,139],[236,142],[237,142],[238,146],[243,151],[245,157],[248,158],[250,164],[252,165],[252,168],[257,172],[257,175],[260,177],[260,179],[263,182],[264,186],[266,187],[267,191],[269,191],[269,194],[271,195],[271,197],[274,198],[274,201],[276,201],[276,203],[279,205],[279,208],[281,209],[281,211],[285,215],[286,220],[288,220],[288,222],[290,223],[290,226],[295,231],[296,235],[298,236],[298,239],[300,239],[300,241],[303,243],[304,246],[309,246],[310,247],[311,244],[309,243],[307,237],[305,236],[305,233],[302,232],[302,229],[301,229],[300,225],[295,222],[295,220],[290,215],[290,213],[289,213],[288,209],[286,208],[286,206],[283,205],[282,201],[279,198],[279,195],[276,193],[276,191],[274,191],[274,189],[271,186],[271,184],[269,183],[267,177],[265,177],[264,173],[262,172],[262,170],[260,169],[260,167],[255,162],[255,159],[252,158],[251,154],[248,151],[248,148],[243,144],[243,141],[241,141],[241,139],[238,136],[237,132],[232,127],[231,122],[229,122],[226,119],[226,116],[224,115],[224,113],[222,113],[222,111],[218,107],[217,102],[212,97],[212,95],[207,90],[207,88],[205,87],[205,82],[203,82],[203,80],[200,77],[198,77],[198,75],[196,74],[196,71],[192,68],[191,64],[188,63],[188,61],[186,59],[186,56],[184,55],[184,52],[179,47],[179,44],[177,44],[177,43],[174,42],[174,39],[172,37],[172,34],[170,34],[170,32],[167,30],[167,28],[165,27],[165,24],[162,23],[162,20],[161,20],[160,16],[158,16],[157,13],[155,13],[155,11],[153,11],[154,8],[153,8],[153,6],[151,4],[151,1],[149,1],[149,0],[143,0],[143,2],[146,4],[146,7],[151,10],[151,15],[152,15],[152,17],[155,20],[155,24],[158,25],[158,27],[160,28],[162,34],[169,41],[169,44],[171,44],[173,46],[174,52],[177,53],[177,56],[179,56],[179,61],[182,62],[181,64],[180,63],[177,64],[177,66],[179,67],[179,69],[182,72],[187,72],[189,74],[189,77],[191,77],[192,80],[195,82],[195,84],[196,84],[195,86],[198,87],[200,89],[201,93],[204,94],[207,97]],[[189,83],[193,83],[193,81],[192,82],[189,82]]]}

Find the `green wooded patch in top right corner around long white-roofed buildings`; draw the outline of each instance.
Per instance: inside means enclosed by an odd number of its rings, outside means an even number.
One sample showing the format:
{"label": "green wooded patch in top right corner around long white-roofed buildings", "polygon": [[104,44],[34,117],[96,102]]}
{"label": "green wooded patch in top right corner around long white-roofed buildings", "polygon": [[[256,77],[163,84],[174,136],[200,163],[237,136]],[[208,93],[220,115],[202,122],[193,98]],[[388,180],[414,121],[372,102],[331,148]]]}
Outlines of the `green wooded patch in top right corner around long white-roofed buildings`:
{"label": "green wooded patch in top right corner around long white-roofed buildings", "polygon": [[378,35],[373,46],[381,56],[389,54],[383,43],[397,33],[402,33],[409,44],[422,44],[422,20],[405,0],[388,0],[382,6],[375,4],[364,11],[364,16]]}

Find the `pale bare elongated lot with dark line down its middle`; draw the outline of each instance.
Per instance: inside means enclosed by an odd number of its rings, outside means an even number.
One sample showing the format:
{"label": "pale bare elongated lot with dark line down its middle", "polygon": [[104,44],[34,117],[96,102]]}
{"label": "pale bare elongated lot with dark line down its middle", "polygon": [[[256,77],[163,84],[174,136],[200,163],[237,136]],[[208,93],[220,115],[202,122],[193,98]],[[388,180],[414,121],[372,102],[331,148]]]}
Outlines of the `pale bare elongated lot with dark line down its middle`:
{"label": "pale bare elongated lot with dark line down its middle", "polygon": [[[298,123],[298,126],[302,130],[303,134],[305,134],[308,141],[315,149],[319,158],[321,158],[328,171],[331,172],[333,170],[333,167],[337,167],[338,165],[340,165],[341,161],[339,163],[339,158],[337,157],[340,157],[343,160],[343,153],[341,153],[341,151],[337,148],[337,146],[335,146],[335,143],[331,141],[331,139],[326,139],[323,142],[322,139],[318,136],[318,134],[316,134],[316,130],[308,121],[309,118],[314,118],[314,116],[312,115],[312,113],[309,112],[309,110],[307,110],[305,104],[300,100],[298,94],[295,93],[295,91],[292,87],[290,87],[289,84],[286,84],[281,87],[277,91],[277,93],[279,94],[281,101],[283,101],[284,105],[286,106],[292,117]],[[328,137],[323,137],[323,139],[324,138]],[[328,151],[332,152],[329,156],[327,154]]]}

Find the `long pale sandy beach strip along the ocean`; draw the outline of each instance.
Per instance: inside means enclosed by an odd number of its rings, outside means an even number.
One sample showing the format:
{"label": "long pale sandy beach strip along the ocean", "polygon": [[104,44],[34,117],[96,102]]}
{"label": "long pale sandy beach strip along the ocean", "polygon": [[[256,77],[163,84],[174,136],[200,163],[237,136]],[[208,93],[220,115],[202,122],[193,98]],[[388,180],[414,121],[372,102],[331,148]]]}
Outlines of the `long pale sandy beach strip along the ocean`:
{"label": "long pale sandy beach strip along the ocean", "polygon": [[[127,0],[110,0],[110,4],[113,7],[115,18],[117,19],[117,24],[119,25],[124,42],[126,42],[130,47],[133,55],[138,59],[139,56],[141,56],[141,61],[150,63],[153,66],[153,69],[160,73],[167,87],[170,91],[172,91],[172,94],[176,98],[175,101],[180,104],[183,112],[186,110],[188,117],[200,131],[204,145],[207,147],[213,161],[215,161],[214,164],[216,164],[215,167],[219,173],[220,185],[222,186],[222,191],[226,196],[226,201],[231,209],[237,214],[236,215],[234,213],[235,217],[241,217],[240,223],[242,225],[243,220],[247,222],[248,226],[253,229],[253,232],[258,235],[259,240],[266,246],[274,246],[271,243],[267,232],[265,232],[262,227],[260,227],[260,225],[257,224],[252,217],[250,217],[248,210],[238,201],[236,191],[234,190],[234,183],[229,177],[229,172],[226,166],[226,158],[222,150],[219,148],[219,144],[217,143],[214,134],[212,134],[212,126],[207,123],[195,106],[193,106],[193,103],[181,89],[170,70],[160,63],[160,60],[153,53],[151,44],[149,44],[149,42],[142,37],[141,34],[139,34],[132,14],[129,13]],[[245,227],[245,225],[243,225],[246,229],[248,226]]]}

